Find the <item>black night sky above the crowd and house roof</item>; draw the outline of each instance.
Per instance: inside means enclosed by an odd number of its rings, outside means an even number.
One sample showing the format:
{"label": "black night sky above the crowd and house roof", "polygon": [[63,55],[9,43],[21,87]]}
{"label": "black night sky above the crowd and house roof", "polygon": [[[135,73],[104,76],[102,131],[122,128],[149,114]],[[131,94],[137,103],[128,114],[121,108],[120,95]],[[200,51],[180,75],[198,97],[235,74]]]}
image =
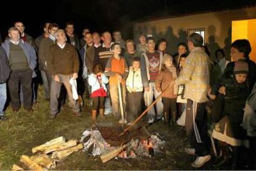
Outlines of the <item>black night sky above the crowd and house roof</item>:
{"label": "black night sky above the crowd and house roof", "polygon": [[[2,1],[1,1],[2,3]],[[75,33],[81,36],[82,29],[91,31],[121,30],[124,39],[132,38],[132,22],[151,14],[186,14],[198,10],[220,10],[234,6],[255,4],[255,1],[216,0],[63,0],[63,1],[10,1],[1,4],[2,38],[14,22],[22,21],[25,32],[34,38],[41,35],[45,22],[75,23]],[[167,13],[166,13],[167,12]],[[36,18],[36,19],[34,19]]]}

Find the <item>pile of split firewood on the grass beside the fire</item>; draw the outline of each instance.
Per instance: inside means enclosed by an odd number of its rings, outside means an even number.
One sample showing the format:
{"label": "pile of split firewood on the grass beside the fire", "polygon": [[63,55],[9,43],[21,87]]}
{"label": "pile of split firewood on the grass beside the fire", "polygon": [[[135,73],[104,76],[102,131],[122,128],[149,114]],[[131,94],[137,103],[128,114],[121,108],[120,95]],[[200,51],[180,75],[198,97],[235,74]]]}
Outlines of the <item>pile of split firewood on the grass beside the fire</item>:
{"label": "pile of split firewood on the grass beside the fire", "polygon": [[[45,144],[32,148],[34,156],[20,156],[20,162],[28,170],[48,170],[56,167],[56,162],[62,161],[75,151],[83,148],[77,140],[66,142],[63,136],[48,141]],[[14,164],[12,170],[24,170],[19,165]]]}

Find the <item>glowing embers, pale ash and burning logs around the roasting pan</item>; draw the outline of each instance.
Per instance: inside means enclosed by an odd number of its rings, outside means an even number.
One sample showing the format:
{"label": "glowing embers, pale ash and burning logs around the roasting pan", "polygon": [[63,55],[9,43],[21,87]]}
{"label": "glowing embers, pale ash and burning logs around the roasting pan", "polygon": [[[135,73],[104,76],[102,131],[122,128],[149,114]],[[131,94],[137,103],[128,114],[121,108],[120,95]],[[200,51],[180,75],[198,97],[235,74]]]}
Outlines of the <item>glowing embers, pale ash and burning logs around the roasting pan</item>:
{"label": "glowing embers, pale ash and burning logs around the roasting pan", "polygon": [[[121,140],[117,138],[119,137],[118,133],[111,135],[111,132],[113,130],[106,132],[101,130],[101,133],[106,133],[106,135],[103,135],[105,138],[109,137],[110,140],[116,141]],[[114,157],[153,157],[164,150],[165,141],[161,140],[159,135],[151,135],[150,138],[132,138],[128,143],[120,144],[121,146],[116,148],[108,144],[108,140],[105,140],[101,133],[98,130],[86,130],[80,142],[83,143],[84,151],[92,153],[93,156],[101,155],[101,160],[105,159],[103,162],[107,162]]]}

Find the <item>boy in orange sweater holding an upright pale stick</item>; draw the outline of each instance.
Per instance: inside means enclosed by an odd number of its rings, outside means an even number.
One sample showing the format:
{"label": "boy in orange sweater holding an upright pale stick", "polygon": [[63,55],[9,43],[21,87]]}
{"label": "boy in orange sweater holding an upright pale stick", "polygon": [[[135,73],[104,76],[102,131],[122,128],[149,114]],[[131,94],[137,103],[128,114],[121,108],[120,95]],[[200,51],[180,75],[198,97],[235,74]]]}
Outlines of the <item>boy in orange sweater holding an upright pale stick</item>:
{"label": "boy in orange sweater holding an upright pale stick", "polygon": [[[128,76],[129,70],[128,65],[124,57],[121,57],[121,46],[119,43],[114,43],[111,46],[111,51],[114,53],[114,56],[109,58],[108,63],[106,64],[105,75],[109,77],[109,91],[111,96],[111,102],[116,117],[120,118],[122,114],[122,119],[119,120],[119,123],[126,123],[124,119],[124,113],[126,109],[126,77]],[[121,97],[122,98],[119,98]],[[121,111],[121,109],[123,109]]]}

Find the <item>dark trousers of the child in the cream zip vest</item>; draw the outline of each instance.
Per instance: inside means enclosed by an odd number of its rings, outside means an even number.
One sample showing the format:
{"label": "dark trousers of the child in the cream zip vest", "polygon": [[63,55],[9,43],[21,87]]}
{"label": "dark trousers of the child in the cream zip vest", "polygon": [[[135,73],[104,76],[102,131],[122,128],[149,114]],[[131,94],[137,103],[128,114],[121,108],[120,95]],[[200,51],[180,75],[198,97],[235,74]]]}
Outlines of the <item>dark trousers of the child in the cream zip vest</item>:
{"label": "dark trousers of the child in the cream zip vest", "polygon": [[144,106],[143,92],[130,93],[129,91],[126,91],[126,111],[129,122],[133,122],[140,114],[142,114]]}

